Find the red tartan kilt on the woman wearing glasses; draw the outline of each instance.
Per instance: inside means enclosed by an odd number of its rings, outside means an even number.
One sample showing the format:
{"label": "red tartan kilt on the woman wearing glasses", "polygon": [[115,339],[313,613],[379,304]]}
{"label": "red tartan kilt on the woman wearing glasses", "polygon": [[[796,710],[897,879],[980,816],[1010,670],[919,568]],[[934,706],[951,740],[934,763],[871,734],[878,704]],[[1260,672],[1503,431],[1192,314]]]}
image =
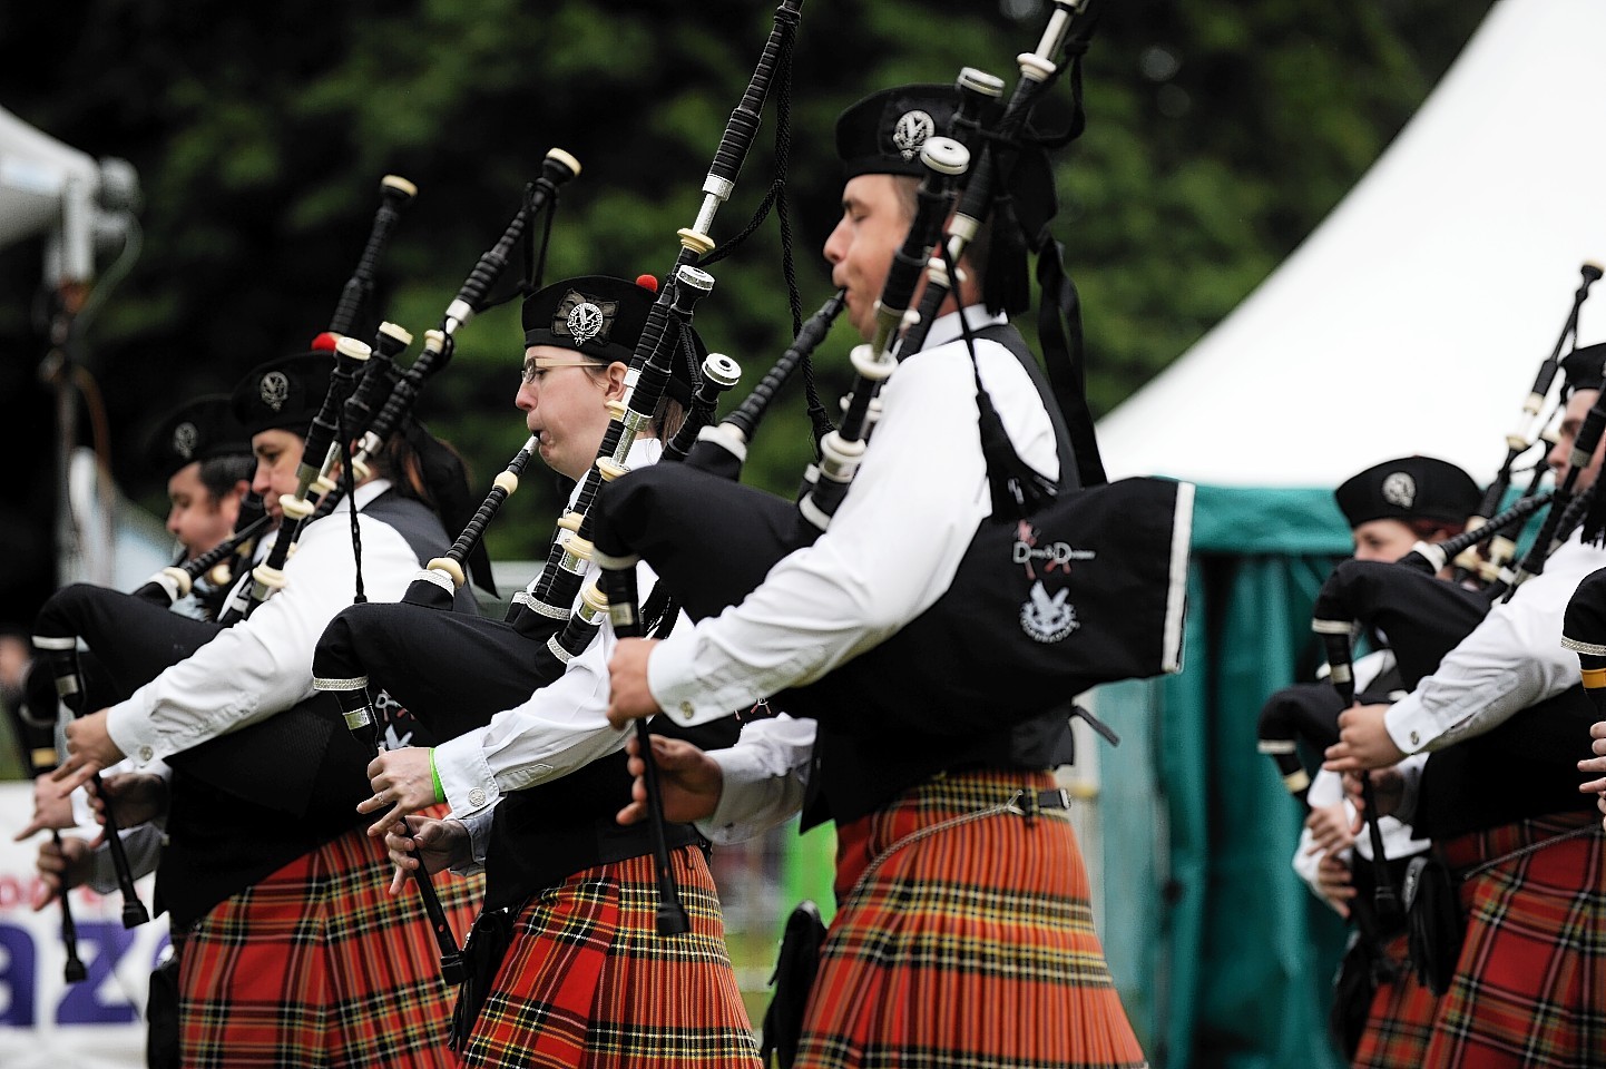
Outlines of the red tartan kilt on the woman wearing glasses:
{"label": "red tartan kilt on the woman wearing glasses", "polygon": [[683,936],[657,931],[652,856],[596,865],[532,897],[463,1051],[464,1066],[758,1069],[713,876],[670,852]]}

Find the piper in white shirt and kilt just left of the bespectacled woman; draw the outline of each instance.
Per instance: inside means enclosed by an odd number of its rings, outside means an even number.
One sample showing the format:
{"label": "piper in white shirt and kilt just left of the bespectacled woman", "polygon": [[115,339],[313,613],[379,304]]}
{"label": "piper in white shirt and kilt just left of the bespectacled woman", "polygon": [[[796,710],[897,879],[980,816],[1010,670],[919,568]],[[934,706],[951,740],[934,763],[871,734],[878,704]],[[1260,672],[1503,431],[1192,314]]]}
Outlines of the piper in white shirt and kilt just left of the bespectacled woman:
{"label": "piper in white shirt and kilt just left of the bespectacled woman", "polygon": [[[331,364],[328,353],[276,360],[233,392],[257,457],[252,488],[275,520],[279,496],[297,488],[302,435]],[[178,952],[186,1069],[454,1063],[435,957],[385,892],[392,868],[352,814],[369,751],[339,729],[332,700],[313,695],[310,671],[315,640],[352,600],[353,502],[369,599],[398,599],[446,547],[424,498],[451,490],[424,485],[418,472],[437,469],[419,449],[443,446],[410,424],[350,499],[302,526],[278,594],[67,727],[59,775],[69,783],[125,754],[172,767],[156,894]],[[469,897],[458,888],[443,900],[458,925]]]}

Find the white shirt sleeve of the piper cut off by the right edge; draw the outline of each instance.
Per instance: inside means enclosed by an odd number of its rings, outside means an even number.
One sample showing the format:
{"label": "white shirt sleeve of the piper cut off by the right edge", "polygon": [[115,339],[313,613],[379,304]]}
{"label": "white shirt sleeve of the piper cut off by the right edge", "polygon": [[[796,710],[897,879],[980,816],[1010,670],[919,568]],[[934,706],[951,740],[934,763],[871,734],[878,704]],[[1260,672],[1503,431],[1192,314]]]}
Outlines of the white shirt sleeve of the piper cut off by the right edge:
{"label": "white shirt sleeve of the piper cut off by the right edge", "polygon": [[1490,608],[1437,671],[1389,706],[1383,722],[1394,745],[1444,750],[1577,684],[1579,658],[1561,645],[1561,621],[1584,576],[1603,567],[1606,549],[1577,536],[1556,549],[1543,573]]}

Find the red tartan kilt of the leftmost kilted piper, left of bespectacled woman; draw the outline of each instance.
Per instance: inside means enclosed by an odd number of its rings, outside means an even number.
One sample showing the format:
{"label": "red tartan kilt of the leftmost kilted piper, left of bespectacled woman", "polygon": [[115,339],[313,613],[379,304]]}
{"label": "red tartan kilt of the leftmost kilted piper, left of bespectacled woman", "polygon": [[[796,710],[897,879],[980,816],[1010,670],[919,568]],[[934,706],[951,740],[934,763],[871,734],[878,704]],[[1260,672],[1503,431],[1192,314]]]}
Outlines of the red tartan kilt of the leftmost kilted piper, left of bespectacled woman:
{"label": "red tartan kilt of the leftmost kilted piper, left of bespectacled woman", "polygon": [[[384,843],[365,830],[297,857],[180,936],[185,1069],[456,1064],[440,950],[416,892],[389,892]],[[482,881],[437,880],[437,891],[461,939]]]}

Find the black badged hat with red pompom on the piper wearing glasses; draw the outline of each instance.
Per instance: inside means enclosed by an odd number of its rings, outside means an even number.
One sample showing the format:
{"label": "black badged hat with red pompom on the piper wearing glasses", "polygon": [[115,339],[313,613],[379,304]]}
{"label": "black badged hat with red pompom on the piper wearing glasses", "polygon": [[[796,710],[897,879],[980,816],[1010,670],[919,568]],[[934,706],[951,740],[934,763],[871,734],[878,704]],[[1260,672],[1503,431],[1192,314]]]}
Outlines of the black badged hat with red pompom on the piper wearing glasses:
{"label": "black badged hat with red pompom on the piper wearing glasses", "polygon": [[[652,281],[646,276],[646,281]],[[636,342],[657,300],[657,286],[628,282],[610,274],[583,274],[544,286],[524,300],[524,343],[556,345],[604,364],[630,363]],[[697,331],[689,331],[694,360],[676,356],[666,392],[683,404],[697,387],[694,376],[708,355]]]}

